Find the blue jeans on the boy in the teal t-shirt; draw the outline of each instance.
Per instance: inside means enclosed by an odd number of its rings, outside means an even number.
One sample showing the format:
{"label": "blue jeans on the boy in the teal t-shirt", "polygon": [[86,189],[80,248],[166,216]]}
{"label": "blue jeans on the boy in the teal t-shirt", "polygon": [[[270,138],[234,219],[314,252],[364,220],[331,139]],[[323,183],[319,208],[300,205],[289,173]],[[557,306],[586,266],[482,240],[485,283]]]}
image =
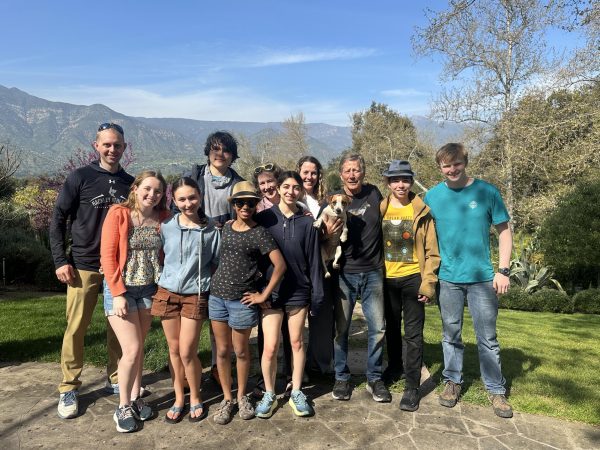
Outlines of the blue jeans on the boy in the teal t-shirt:
{"label": "blue jeans on the boy in the teal t-shirt", "polygon": [[490,394],[504,394],[506,380],[500,365],[500,345],[496,336],[498,297],[491,281],[450,283],[440,280],[438,302],[442,315],[444,382],[462,384],[465,346],[462,342],[465,298],[473,318],[479,352],[479,370]]}

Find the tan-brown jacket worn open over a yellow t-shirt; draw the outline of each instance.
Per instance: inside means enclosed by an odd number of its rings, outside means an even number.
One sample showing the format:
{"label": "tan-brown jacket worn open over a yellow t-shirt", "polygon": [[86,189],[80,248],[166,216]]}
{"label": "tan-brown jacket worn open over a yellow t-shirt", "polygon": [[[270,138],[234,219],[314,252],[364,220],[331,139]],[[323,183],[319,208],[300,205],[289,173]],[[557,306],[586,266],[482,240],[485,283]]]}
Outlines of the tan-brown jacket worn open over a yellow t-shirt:
{"label": "tan-brown jacket worn open over a yellow t-shirt", "polygon": [[[390,203],[390,198],[391,194],[379,204],[382,220]],[[429,206],[421,200],[421,197],[414,192],[410,192],[408,198],[414,209],[413,235],[415,237],[415,250],[419,259],[419,268],[421,269],[419,294],[433,298],[437,283],[437,273],[440,267],[440,252],[437,246],[435,224],[433,217],[431,217]]]}

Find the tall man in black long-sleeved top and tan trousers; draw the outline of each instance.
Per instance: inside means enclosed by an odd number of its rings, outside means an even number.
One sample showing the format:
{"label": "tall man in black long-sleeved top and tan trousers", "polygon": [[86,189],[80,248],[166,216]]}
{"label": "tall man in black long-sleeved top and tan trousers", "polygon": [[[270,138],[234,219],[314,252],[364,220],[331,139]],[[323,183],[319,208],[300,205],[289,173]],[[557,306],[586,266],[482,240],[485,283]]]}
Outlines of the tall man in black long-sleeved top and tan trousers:
{"label": "tall man in black long-sleeved top and tan trousers", "polygon": [[[60,355],[63,378],[58,386],[61,419],[77,417],[79,411],[83,338],[102,286],[102,274],[99,273],[102,224],[108,208],[113,203],[125,201],[133,183],[133,177],[119,164],[127,147],[120,125],[100,125],[93,145],[99,154],[98,161],[69,174],[58,195],[50,223],[50,247],[56,277],[67,285],[67,328]],[[70,254],[67,254],[67,231],[71,237]],[[107,388],[113,389],[117,383],[121,347],[109,325],[107,346]]]}

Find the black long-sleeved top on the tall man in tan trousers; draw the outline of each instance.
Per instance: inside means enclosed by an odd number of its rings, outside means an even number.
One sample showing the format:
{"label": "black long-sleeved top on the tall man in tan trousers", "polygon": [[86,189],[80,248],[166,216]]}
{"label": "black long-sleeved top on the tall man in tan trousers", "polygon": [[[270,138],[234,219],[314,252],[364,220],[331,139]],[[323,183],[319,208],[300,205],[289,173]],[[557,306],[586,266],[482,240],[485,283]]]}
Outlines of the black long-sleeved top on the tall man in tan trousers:
{"label": "black long-sleeved top on the tall man in tan trousers", "polygon": [[[108,208],[127,200],[134,178],[122,168],[110,173],[98,161],[75,169],[58,194],[50,222],[50,248],[58,269],[72,264],[97,272],[100,268],[100,235]],[[67,257],[67,224],[71,255]]]}

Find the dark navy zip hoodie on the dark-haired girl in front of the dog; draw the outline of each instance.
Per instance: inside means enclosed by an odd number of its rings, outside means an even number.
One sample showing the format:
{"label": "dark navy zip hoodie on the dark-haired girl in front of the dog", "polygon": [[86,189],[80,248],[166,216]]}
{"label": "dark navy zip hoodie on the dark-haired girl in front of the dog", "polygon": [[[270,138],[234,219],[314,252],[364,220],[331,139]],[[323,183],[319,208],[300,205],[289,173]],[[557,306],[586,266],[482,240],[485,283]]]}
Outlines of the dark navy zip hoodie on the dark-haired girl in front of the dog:
{"label": "dark navy zip hoodie on the dark-haired girl in front of the dog", "polygon": [[[271,233],[287,265],[283,279],[273,291],[273,306],[310,305],[312,315],[317,315],[323,304],[323,269],[312,217],[304,215],[301,209],[285,217],[275,205],[258,213],[256,221]],[[269,266],[267,279],[272,271]]]}

